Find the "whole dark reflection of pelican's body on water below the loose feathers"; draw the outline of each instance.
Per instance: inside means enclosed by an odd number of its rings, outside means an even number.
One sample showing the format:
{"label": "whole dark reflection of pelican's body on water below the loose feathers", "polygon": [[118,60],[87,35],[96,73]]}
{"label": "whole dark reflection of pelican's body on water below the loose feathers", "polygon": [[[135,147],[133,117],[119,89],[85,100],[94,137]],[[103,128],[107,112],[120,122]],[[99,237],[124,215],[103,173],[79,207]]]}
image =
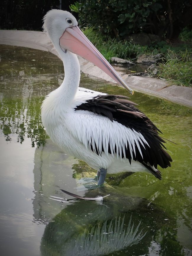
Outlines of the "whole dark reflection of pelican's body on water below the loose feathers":
{"label": "whole dark reflection of pelican's body on water below the loose feathers", "polygon": [[152,244],[157,253],[155,238],[169,222],[165,212],[146,199],[102,188],[102,194],[109,192],[103,204],[81,200],[61,210],[45,228],[42,256],[148,255]]}

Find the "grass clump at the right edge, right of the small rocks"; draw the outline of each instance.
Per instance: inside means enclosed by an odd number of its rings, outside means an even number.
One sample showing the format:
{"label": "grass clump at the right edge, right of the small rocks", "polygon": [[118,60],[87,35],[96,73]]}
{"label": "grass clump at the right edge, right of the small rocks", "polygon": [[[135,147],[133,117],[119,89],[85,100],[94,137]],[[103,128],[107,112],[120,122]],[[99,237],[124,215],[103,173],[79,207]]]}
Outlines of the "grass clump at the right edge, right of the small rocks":
{"label": "grass clump at the right edge, right of the small rocks", "polygon": [[165,78],[170,85],[192,86],[192,51],[186,49],[180,54],[168,51],[166,63],[159,64],[159,77]]}

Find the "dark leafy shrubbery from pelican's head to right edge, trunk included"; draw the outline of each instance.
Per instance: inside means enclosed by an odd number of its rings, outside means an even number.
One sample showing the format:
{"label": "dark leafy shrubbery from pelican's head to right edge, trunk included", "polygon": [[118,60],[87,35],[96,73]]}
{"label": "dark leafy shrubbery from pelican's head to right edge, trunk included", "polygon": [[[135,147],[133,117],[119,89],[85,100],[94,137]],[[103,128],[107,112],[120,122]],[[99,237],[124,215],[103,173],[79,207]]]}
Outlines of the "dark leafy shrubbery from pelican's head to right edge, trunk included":
{"label": "dark leafy shrubbery from pelican's head to right edge, trunk included", "polygon": [[171,39],[192,22],[191,0],[79,0],[71,10],[83,26],[111,37],[146,32]]}

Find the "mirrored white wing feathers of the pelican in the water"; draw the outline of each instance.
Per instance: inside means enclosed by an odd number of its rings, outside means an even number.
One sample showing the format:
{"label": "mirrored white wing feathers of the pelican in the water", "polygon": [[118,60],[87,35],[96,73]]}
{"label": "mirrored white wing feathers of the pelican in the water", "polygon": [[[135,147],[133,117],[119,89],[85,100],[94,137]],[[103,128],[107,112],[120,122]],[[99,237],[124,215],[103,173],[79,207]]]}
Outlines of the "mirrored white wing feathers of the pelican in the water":
{"label": "mirrored white wing feathers of the pelican in the water", "polygon": [[96,256],[107,255],[131,246],[138,244],[146,233],[139,229],[140,223],[134,227],[131,218],[127,229],[124,226],[124,218],[117,217],[110,222],[105,221],[102,226],[97,224],[91,229],[85,229],[84,232],[74,240],[73,243],[66,244],[66,255],[84,255]]}

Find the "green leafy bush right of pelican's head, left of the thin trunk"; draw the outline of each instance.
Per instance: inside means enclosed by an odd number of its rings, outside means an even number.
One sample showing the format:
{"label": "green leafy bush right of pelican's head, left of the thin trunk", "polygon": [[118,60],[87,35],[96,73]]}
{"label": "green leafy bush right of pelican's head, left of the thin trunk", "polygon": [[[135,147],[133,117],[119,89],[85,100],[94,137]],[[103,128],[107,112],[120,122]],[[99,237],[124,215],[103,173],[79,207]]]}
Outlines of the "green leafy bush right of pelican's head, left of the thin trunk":
{"label": "green leafy bush right of pelican's head, left of the thin trunk", "polygon": [[79,0],[70,6],[79,12],[82,26],[95,27],[112,37],[141,31],[151,12],[162,8],[157,0]]}

